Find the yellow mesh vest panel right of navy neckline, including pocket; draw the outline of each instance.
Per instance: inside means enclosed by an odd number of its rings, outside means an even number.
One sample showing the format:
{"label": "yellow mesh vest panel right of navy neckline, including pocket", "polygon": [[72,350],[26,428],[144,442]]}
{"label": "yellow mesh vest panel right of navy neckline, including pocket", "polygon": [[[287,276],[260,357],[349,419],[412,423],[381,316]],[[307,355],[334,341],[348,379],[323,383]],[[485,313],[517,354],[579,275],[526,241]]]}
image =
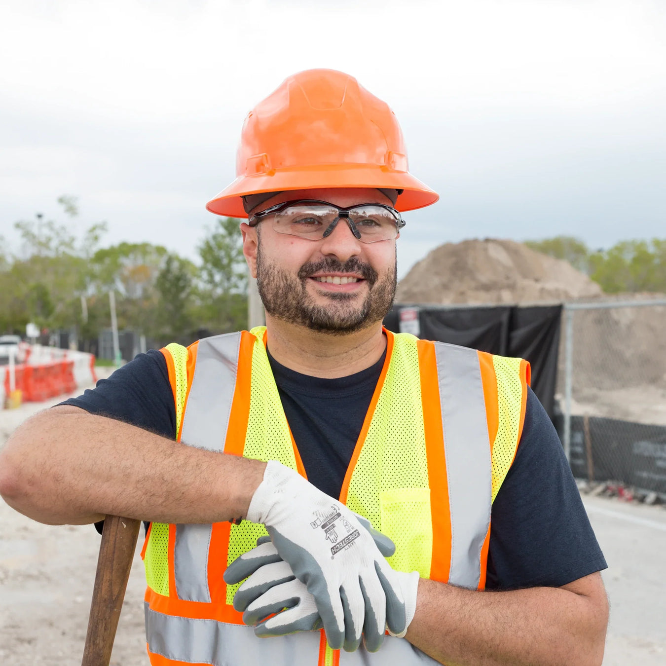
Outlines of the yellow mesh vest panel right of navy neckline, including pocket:
{"label": "yellow mesh vest panel right of navy neckline, including pocket", "polygon": [[384,386],[349,484],[347,505],[393,539],[399,571],[430,577],[432,517],[417,338],[394,336]]}

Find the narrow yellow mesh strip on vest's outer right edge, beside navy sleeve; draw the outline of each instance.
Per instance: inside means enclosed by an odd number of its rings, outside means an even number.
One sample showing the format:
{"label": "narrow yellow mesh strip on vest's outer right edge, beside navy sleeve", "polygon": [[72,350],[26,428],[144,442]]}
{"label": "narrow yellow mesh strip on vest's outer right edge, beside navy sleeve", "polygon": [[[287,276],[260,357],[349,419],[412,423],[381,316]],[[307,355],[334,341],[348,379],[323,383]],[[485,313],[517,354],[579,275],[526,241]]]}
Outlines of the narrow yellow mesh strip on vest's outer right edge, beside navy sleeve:
{"label": "narrow yellow mesh strip on vest's outer right edge, beside navy sleeve", "polygon": [[492,501],[500,490],[518,446],[523,398],[519,358],[493,356],[498,383],[498,434],[492,456]]}

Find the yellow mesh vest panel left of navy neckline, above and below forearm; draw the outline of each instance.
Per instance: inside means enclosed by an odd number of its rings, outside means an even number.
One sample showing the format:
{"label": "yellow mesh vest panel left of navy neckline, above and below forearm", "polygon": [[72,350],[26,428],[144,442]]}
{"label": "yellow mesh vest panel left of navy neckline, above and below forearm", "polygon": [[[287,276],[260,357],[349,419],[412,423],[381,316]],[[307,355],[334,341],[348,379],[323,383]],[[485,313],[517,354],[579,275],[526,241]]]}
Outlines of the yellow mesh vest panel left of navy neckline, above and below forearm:
{"label": "yellow mesh vest panel left of navy neckline, above and below forearm", "polygon": [[[264,326],[253,328],[256,337],[252,349],[252,376],[250,378],[250,416],[245,436],[243,456],[256,460],[279,460],[283,465],[296,469],[296,456],[292,446],[289,426],[282,409],[280,394],[264,347]],[[227,565],[238,555],[254,548],[258,537],[267,534],[264,525],[246,520],[232,525],[229,535]],[[231,604],[238,585],[227,585],[226,603]]]}

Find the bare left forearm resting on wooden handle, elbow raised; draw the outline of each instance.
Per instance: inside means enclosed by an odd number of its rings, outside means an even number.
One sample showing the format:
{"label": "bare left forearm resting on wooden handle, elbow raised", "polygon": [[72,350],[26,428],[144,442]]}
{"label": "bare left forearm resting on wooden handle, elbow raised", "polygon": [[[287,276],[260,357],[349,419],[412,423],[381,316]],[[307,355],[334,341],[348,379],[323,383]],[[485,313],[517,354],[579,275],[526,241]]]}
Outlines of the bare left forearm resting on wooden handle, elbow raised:
{"label": "bare left forearm resting on wooden handle, elbow raised", "polygon": [[51,525],[105,515],[214,523],[246,515],[264,468],[61,406],[33,416],[0,450],[0,494]]}

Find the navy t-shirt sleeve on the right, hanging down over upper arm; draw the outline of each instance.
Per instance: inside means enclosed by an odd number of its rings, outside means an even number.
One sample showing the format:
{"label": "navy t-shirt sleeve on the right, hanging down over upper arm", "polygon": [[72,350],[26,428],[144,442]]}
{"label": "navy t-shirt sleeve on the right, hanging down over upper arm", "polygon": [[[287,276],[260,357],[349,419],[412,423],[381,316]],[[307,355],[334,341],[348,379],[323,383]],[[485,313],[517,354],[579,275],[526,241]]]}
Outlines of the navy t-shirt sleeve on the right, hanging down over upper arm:
{"label": "navy t-shirt sleeve on the right, hanging down over upper arm", "polygon": [[557,432],[528,388],[515,460],[492,507],[486,588],[561,587],[606,567]]}

